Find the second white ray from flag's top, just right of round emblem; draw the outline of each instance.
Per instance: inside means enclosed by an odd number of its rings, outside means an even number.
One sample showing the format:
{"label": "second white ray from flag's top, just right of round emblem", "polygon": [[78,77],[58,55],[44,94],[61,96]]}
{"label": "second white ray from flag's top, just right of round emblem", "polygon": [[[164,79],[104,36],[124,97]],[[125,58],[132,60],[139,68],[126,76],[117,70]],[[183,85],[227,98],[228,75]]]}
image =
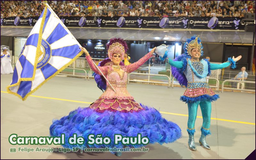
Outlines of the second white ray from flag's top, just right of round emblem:
{"label": "second white ray from flag's top, just right of round emblem", "polygon": [[76,39],[72,39],[71,35],[66,35],[60,38],[58,41],[52,43],[51,49],[54,50],[54,49],[60,48],[60,46],[70,46],[74,44],[77,44]]}

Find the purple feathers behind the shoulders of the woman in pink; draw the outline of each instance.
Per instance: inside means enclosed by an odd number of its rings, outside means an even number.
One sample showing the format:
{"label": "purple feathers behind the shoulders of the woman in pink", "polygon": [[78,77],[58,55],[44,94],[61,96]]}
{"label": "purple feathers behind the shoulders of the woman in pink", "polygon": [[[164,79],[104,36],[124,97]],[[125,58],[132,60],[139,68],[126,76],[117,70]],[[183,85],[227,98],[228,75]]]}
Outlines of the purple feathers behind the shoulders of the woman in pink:
{"label": "purple feathers behind the shoulders of the woman in pink", "polygon": [[[100,61],[98,66],[103,67],[108,62],[111,62],[111,60],[109,58],[106,58],[105,60]],[[124,62],[121,61],[119,65],[124,66]],[[107,83],[105,78],[95,72],[92,74],[92,76],[94,76],[94,80],[97,83],[97,87],[100,88],[102,92],[104,92],[107,89]]]}

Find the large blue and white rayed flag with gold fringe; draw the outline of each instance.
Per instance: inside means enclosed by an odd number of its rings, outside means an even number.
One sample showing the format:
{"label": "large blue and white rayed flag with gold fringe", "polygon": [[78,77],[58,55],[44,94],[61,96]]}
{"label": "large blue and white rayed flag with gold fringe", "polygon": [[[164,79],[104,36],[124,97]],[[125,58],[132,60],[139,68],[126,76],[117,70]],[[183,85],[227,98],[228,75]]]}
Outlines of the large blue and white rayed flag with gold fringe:
{"label": "large blue and white rayed flag with gold fringe", "polygon": [[83,53],[81,45],[48,4],[31,30],[7,91],[26,100]]}

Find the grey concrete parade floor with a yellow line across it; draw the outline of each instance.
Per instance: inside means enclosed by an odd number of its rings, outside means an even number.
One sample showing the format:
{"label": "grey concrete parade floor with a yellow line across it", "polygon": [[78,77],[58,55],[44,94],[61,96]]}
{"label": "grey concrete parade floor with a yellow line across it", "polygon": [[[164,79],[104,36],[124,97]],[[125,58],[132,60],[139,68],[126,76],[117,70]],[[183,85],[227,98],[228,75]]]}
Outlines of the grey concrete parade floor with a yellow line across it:
{"label": "grey concrete parade floor with a yellow line across it", "polygon": [[164,118],[177,123],[183,136],[169,144],[149,144],[148,152],[124,152],[117,157],[109,152],[16,152],[10,148],[59,148],[60,145],[11,145],[8,137],[49,136],[53,119],[78,107],[88,107],[102,94],[94,79],[55,76],[22,101],[6,92],[12,74],[1,74],[1,159],[244,159],[255,149],[255,93],[224,92],[220,99],[212,102],[212,135],[206,138],[211,150],[199,145],[200,128],[203,119],[198,107],[195,124],[195,145],[197,151],[188,149],[188,108],[181,102],[184,88],[128,84],[128,91],[137,102],[154,107]]}

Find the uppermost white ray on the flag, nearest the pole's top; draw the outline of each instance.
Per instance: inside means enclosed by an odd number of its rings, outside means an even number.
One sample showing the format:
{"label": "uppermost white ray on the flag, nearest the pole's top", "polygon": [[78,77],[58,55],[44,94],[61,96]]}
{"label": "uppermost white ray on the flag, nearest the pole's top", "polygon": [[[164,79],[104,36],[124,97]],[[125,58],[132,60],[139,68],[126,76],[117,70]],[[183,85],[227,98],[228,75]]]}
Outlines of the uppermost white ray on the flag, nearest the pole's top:
{"label": "uppermost white ray on the flag, nearest the pole's top", "polygon": [[55,27],[58,24],[59,24],[59,21],[54,17],[53,14],[51,14],[44,28],[44,33],[42,35],[42,38],[46,40],[52,34],[52,31],[55,29]]}

